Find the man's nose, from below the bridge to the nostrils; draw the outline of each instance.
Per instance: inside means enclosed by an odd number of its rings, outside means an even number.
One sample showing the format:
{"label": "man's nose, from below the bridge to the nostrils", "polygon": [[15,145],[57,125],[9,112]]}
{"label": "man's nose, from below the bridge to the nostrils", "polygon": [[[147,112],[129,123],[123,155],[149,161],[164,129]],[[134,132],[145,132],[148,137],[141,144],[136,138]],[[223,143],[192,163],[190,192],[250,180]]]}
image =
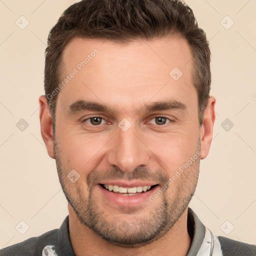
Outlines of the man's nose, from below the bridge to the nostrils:
{"label": "man's nose, from below the bridge to the nostrils", "polygon": [[132,126],[127,131],[117,128],[107,157],[109,164],[119,167],[123,172],[147,165],[151,152]]}

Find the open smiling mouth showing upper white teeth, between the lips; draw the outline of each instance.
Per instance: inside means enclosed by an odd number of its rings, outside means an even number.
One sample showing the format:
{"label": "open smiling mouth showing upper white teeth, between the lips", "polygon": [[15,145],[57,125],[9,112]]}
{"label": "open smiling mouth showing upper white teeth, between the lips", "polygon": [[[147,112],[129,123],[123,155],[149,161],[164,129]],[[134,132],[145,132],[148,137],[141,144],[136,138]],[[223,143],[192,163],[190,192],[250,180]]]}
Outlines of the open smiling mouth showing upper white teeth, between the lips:
{"label": "open smiling mouth showing upper white teeth, between the lips", "polygon": [[132,196],[132,195],[146,193],[147,191],[153,189],[158,184],[154,184],[151,186],[144,185],[144,186],[134,186],[134,187],[122,187],[122,186],[118,186],[118,185],[100,184],[100,183],[99,183],[99,185],[101,187],[103,187],[103,189],[110,191],[112,193],[126,195],[126,196]]}

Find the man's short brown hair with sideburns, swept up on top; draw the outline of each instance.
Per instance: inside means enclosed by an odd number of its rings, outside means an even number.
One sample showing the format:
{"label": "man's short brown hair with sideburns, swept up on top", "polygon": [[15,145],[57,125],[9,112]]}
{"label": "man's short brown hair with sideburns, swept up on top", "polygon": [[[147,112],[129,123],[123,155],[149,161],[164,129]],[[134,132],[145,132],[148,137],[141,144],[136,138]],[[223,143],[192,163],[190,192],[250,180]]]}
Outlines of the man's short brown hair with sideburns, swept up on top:
{"label": "man's short brown hair with sideburns, swept up on top", "polygon": [[[82,0],[69,6],[49,32],[45,49],[45,95],[51,95],[59,85],[62,52],[74,37],[127,43],[171,34],[185,38],[192,52],[192,79],[201,125],[211,83],[210,49],[191,8],[181,0]],[[57,94],[47,97],[53,130],[56,99]]]}

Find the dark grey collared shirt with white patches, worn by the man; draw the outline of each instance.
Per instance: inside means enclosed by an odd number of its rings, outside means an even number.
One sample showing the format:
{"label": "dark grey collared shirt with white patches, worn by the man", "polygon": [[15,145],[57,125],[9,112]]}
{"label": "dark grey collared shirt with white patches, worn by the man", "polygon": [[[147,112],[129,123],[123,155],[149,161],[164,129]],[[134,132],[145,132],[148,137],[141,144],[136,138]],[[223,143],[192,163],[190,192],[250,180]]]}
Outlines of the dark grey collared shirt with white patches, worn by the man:
{"label": "dark grey collared shirt with white patches, worn by the man", "polygon": [[[1,249],[0,256],[75,256],[69,237],[68,217],[58,229]],[[255,245],[213,235],[191,208],[188,208],[187,230],[192,241],[186,256],[256,255]]]}

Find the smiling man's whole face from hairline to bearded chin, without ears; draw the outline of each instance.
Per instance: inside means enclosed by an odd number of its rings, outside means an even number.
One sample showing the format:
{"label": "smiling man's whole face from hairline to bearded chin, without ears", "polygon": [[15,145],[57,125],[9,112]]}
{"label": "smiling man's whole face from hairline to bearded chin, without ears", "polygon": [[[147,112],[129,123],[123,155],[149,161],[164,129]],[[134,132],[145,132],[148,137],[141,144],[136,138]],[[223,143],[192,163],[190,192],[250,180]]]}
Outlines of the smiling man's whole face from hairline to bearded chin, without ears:
{"label": "smiling man's whole face from hairline to bearded chin, without ears", "polygon": [[74,38],[63,52],[59,180],[80,222],[112,244],[163,236],[194,193],[202,130],[191,58],[178,37]]}

